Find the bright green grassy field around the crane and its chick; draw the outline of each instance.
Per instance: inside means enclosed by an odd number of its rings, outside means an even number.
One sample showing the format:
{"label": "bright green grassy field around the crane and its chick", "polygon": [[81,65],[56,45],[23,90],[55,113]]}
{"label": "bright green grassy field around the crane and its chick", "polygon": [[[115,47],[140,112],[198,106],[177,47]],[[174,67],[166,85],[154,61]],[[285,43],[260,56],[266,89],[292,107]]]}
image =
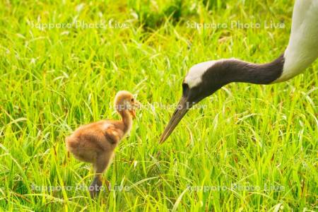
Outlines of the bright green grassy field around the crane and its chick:
{"label": "bright green grassy field around the crane and its chick", "polygon": [[[193,64],[275,59],[292,11],[287,0],[0,1],[1,211],[317,211],[317,61],[286,83],[225,86],[158,144]],[[92,200],[93,169],[67,158],[64,139],[119,119],[118,90],[143,107]]]}

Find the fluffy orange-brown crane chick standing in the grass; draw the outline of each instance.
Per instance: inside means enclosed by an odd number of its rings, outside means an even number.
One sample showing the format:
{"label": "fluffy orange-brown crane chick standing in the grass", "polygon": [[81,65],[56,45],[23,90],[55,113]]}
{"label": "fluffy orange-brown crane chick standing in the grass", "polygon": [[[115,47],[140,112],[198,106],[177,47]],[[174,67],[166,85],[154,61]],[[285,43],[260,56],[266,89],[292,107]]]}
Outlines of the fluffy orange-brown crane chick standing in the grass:
{"label": "fluffy orange-brown crane chick standing in the grass", "polygon": [[102,120],[79,127],[66,138],[66,148],[78,160],[93,163],[95,178],[90,184],[90,196],[97,196],[102,186],[101,175],[110,164],[114,148],[129,134],[139,102],[134,95],[121,90],[114,98],[114,106],[122,120]]}

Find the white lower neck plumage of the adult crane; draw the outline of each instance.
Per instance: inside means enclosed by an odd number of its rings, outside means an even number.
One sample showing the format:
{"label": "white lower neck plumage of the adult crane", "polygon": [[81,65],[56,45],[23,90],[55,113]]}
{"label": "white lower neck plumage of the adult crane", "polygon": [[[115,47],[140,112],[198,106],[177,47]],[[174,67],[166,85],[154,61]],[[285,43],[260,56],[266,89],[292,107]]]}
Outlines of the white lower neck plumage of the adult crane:
{"label": "white lower neck plumage of the adult crane", "polygon": [[302,73],[318,57],[318,0],[297,0],[279,83]]}

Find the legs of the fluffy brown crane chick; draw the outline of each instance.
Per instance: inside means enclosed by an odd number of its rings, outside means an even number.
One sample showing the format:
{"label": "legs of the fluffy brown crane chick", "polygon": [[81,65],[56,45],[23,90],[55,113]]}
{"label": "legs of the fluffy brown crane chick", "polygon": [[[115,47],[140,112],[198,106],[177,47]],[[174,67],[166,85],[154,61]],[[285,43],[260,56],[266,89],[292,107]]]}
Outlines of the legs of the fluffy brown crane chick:
{"label": "legs of the fluffy brown crane chick", "polygon": [[90,184],[90,197],[94,198],[95,196],[98,196],[100,189],[102,189],[102,173],[107,168],[107,165],[109,165],[110,160],[112,160],[113,153],[104,153],[103,155],[100,155],[97,160],[94,163],[95,168],[95,177]]}

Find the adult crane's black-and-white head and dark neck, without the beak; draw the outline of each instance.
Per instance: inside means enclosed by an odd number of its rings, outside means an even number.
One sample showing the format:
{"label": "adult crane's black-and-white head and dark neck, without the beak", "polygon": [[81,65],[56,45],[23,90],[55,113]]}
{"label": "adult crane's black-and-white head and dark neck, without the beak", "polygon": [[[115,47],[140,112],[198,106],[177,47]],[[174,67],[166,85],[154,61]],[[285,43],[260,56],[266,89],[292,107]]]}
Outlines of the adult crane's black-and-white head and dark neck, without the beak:
{"label": "adult crane's black-and-white head and dark neck, without the beak", "polygon": [[283,72],[284,57],[266,64],[253,64],[239,59],[220,59],[192,66],[183,81],[183,95],[189,102],[199,102],[232,82],[269,84]]}

